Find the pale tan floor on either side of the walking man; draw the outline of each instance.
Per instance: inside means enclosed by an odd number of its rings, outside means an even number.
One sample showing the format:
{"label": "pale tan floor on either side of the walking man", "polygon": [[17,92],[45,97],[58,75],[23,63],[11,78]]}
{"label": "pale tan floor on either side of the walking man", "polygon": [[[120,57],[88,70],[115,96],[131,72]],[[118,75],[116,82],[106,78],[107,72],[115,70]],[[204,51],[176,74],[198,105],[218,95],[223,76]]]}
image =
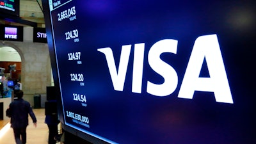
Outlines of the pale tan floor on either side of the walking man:
{"label": "pale tan floor on either side of the walking man", "polygon": [[[44,123],[45,109],[33,109],[37,118],[37,127],[34,127],[31,118],[29,117],[29,125],[27,128],[27,144],[48,144],[48,127]],[[7,123],[7,124],[6,124]],[[3,127],[4,125],[4,127]],[[0,143],[1,144],[14,144],[13,129],[6,121],[0,121]],[[7,129],[6,132],[3,132]],[[2,135],[3,133],[3,135]]]}

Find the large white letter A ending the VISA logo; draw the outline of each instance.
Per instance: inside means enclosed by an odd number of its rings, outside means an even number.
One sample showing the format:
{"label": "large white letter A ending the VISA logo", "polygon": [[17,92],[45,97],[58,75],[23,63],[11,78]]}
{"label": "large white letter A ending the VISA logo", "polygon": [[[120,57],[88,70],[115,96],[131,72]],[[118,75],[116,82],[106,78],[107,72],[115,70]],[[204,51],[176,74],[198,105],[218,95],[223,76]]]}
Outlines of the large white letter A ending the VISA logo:
{"label": "large white letter A ending the VISA logo", "polygon": [[[204,58],[210,77],[199,77]],[[178,97],[193,99],[195,91],[214,92],[217,102],[233,103],[216,35],[196,39]]]}

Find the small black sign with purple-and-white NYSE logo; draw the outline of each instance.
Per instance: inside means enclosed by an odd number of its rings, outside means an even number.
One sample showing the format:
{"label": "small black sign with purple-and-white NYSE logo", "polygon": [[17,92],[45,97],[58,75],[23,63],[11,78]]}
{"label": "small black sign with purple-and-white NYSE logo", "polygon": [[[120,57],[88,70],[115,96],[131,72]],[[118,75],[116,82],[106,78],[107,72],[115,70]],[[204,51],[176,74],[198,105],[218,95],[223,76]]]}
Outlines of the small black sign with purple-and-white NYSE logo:
{"label": "small black sign with purple-and-white NYSE logo", "polygon": [[0,40],[23,42],[23,27],[0,25]]}

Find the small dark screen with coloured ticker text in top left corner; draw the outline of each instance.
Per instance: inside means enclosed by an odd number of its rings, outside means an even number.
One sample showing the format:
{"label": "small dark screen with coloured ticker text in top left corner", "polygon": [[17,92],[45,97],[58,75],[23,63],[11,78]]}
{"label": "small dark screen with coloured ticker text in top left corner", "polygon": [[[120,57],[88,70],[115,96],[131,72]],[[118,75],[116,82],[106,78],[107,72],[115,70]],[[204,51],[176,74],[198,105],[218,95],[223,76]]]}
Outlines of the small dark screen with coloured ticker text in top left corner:
{"label": "small dark screen with coloured ticker text in top left corner", "polygon": [[20,1],[19,0],[0,0],[0,12],[19,17]]}

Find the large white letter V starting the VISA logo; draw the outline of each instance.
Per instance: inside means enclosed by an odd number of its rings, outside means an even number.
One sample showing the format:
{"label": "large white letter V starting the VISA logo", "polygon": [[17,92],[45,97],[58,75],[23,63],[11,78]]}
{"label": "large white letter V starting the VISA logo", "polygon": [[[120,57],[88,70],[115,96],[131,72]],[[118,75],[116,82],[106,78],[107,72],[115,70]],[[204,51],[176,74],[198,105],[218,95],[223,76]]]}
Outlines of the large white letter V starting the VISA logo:
{"label": "large white letter V starting the VISA logo", "polygon": [[122,46],[118,70],[116,69],[113,52],[110,47],[98,49],[98,51],[104,53],[106,56],[114,89],[117,91],[123,91],[129,56],[131,52],[131,45]]}

